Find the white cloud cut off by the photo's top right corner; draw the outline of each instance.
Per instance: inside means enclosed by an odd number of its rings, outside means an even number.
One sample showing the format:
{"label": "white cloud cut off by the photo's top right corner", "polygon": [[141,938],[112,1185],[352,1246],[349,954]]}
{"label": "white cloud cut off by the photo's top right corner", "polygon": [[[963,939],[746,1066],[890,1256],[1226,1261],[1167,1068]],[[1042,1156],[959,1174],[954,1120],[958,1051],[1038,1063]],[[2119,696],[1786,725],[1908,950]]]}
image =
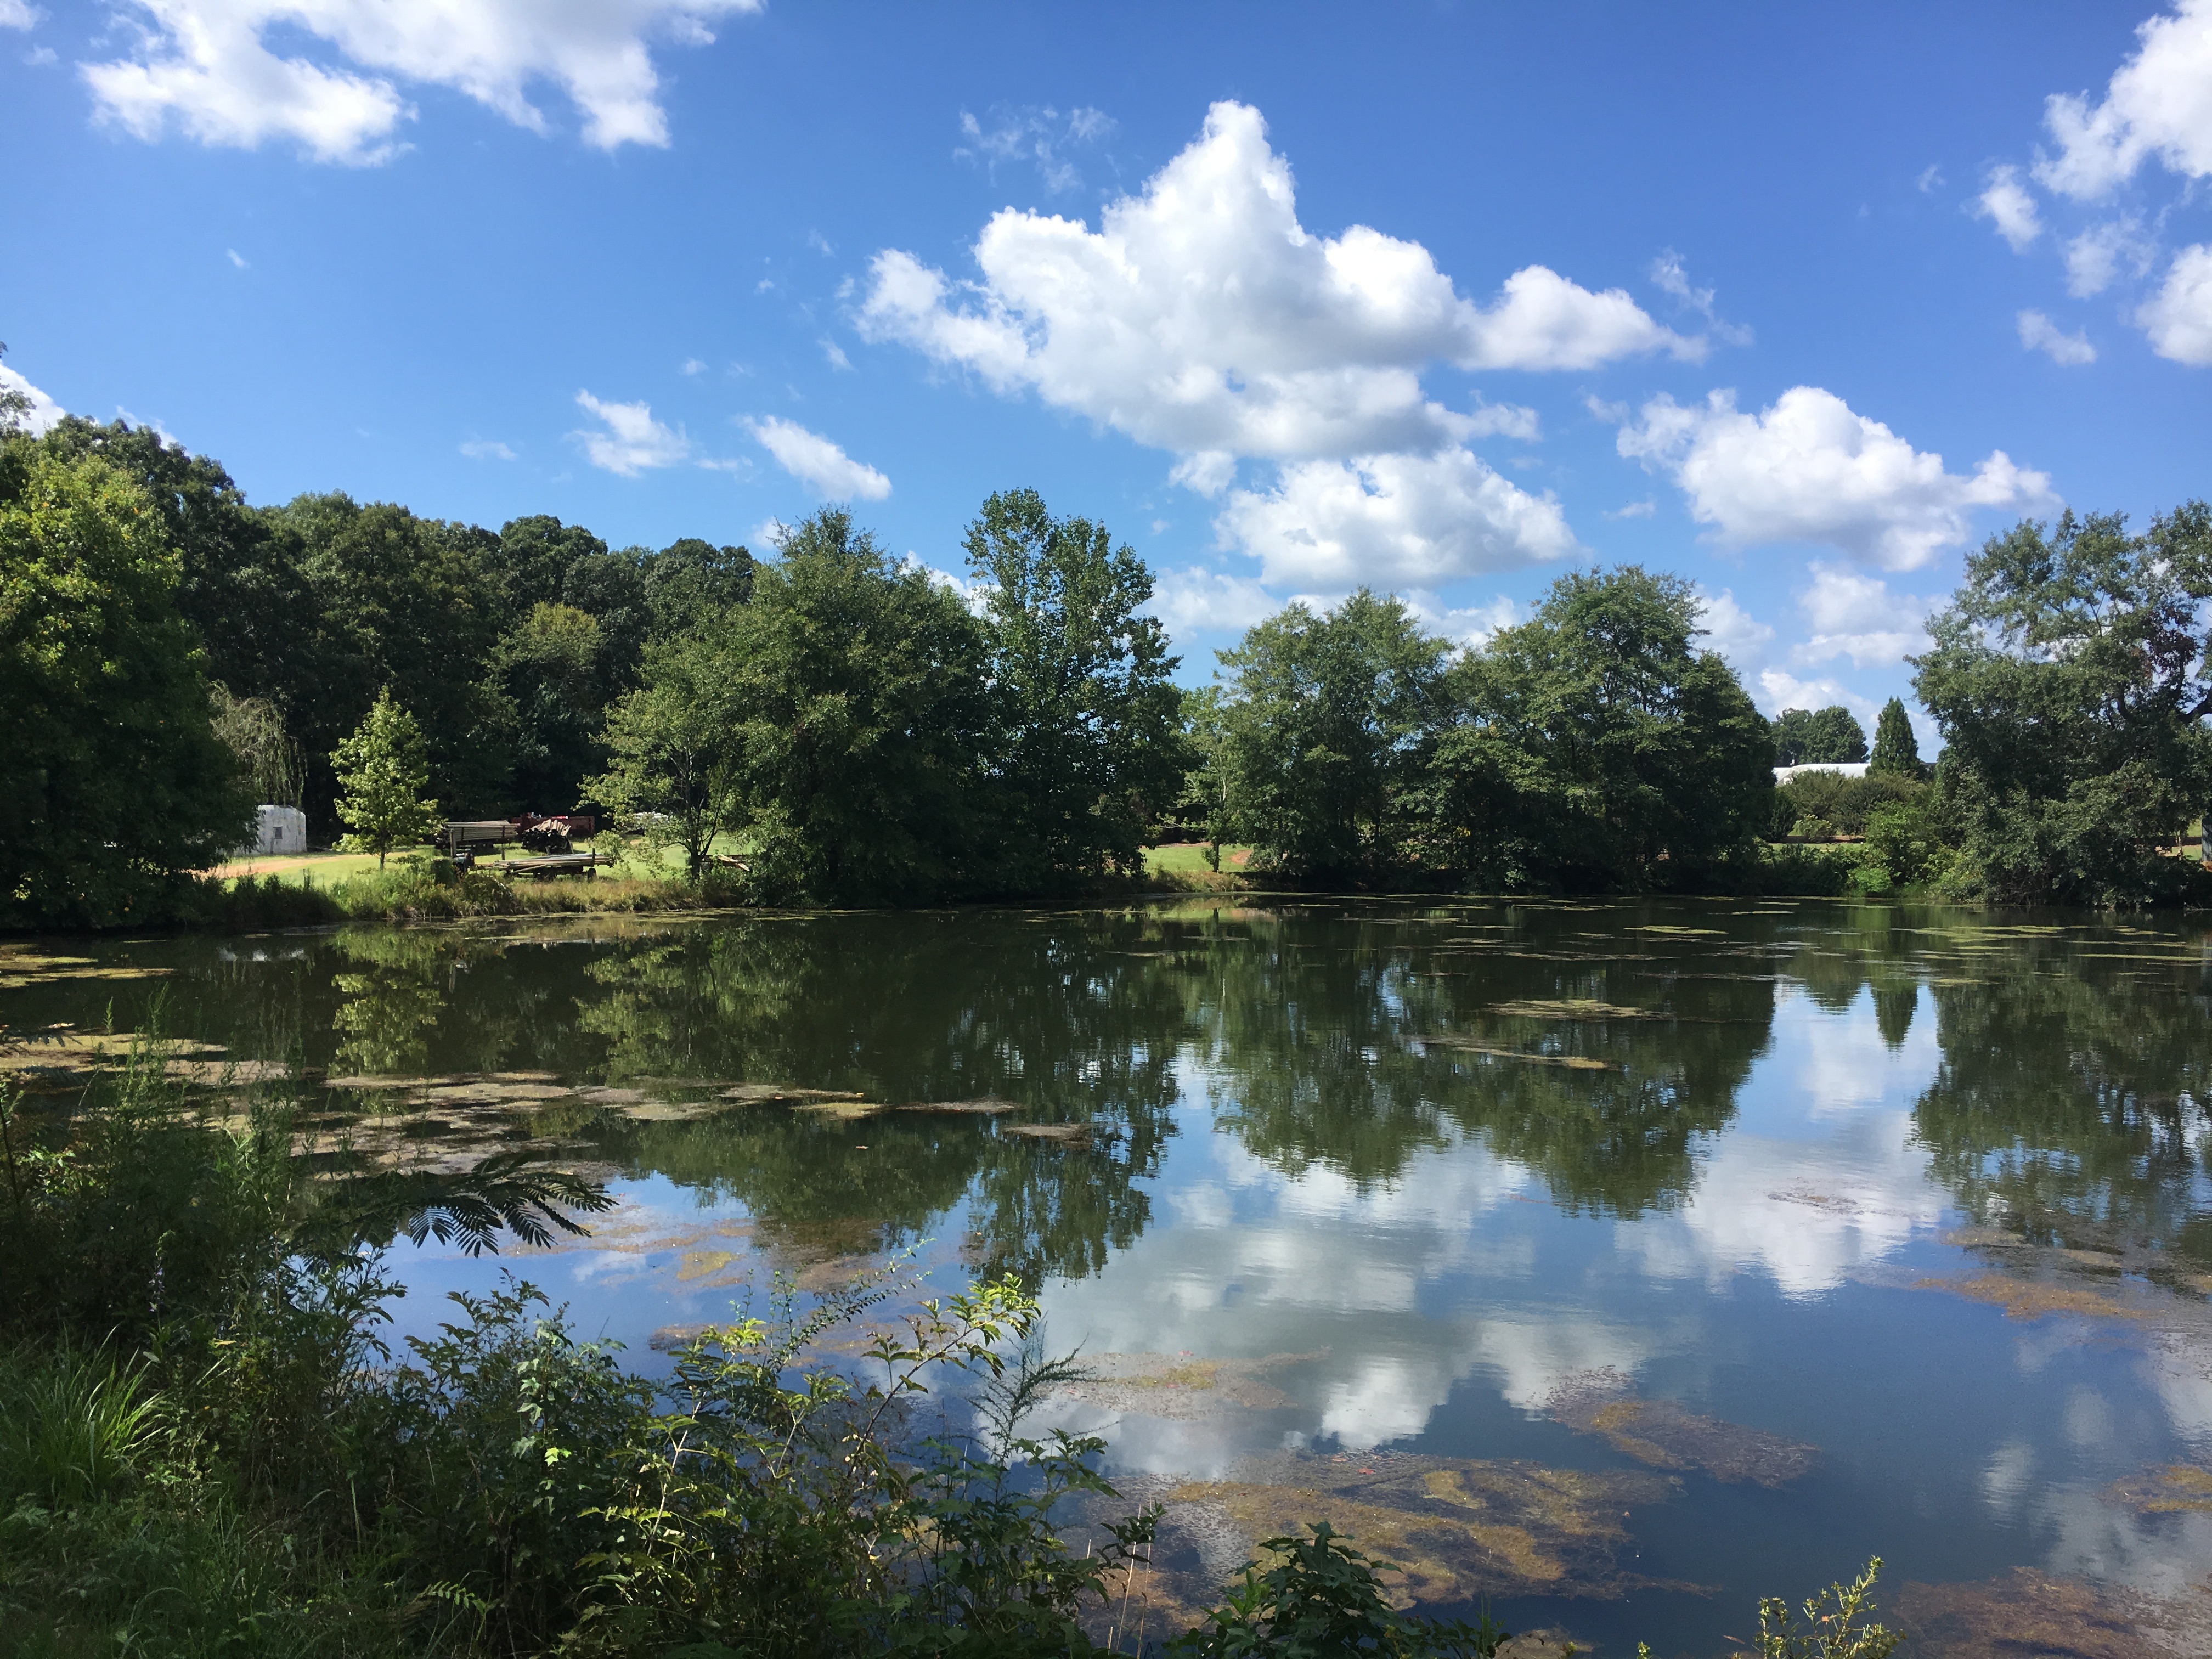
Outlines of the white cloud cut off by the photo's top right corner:
{"label": "white cloud cut off by the photo's top right corner", "polygon": [[2135,31],[2097,104],[2059,93],[2044,106],[2057,155],[2035,166],[2046,188],[2097,201],[2150,157],[2188,179],[2212,175],[2212,0],[2181,0]]}

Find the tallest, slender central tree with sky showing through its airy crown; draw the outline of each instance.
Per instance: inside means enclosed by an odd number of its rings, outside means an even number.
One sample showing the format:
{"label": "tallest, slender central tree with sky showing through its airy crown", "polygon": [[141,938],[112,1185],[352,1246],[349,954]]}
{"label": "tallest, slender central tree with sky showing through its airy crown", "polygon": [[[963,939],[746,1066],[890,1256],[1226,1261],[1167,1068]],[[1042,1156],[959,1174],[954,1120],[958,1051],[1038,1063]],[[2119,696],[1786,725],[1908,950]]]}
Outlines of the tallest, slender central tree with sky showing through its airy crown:
{"label": "tallest, slender central tree with sky showing through its airy crown", "polygon": [[1104,524],[1053,518],[1033,489],[991,495],[967,555],[989,595],[1009,874],[1051,885],[1144,869],[1146,823],[1183,774],[1179,659],[1139,615],[1152,573]]}

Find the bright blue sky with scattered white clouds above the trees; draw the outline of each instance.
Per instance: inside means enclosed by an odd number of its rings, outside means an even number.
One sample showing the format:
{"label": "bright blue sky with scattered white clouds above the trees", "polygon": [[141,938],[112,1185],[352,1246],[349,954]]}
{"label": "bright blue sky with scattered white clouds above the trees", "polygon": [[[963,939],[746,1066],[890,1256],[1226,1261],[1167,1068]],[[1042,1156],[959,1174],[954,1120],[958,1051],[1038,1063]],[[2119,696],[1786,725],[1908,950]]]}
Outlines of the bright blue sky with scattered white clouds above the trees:
{"label": "bright blue sky with scattered white clouds above the trees", "polygon": [[613,544],[1035,484],[1292,595],[1710,595],[1863,717],[1964,551],[2212,489],[2212,0],[0,0],[7,367],[252,500]]}

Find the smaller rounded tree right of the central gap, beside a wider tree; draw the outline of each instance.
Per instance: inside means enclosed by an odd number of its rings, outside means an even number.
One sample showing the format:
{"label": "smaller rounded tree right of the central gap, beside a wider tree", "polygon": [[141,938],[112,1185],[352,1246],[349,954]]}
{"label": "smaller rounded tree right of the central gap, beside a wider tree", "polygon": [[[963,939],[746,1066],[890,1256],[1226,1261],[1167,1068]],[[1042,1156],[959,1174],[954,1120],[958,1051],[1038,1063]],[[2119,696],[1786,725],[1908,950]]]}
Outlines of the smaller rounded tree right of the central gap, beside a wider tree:
{"label": "smaller rounded tree right of the central gap, beside a wider tree", "polygon": [[1237,832],[1323,883],[1405,863],[1411,794],[1447,717],[1444,653],[1405,604],[1367,588],[1321,615],[1292,604],[1223,650]]}

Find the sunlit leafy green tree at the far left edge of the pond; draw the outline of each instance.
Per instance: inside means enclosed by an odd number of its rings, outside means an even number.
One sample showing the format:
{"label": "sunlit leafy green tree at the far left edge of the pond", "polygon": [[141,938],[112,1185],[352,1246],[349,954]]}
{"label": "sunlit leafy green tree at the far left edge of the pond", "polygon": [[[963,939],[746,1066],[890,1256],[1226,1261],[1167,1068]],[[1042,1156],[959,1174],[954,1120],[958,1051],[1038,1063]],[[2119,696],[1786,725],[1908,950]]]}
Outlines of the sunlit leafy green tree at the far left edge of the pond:
{"label": "sunlit leafy green tree at the far left edge of the pond", "polygon": [[0,925],[150,918],[246,834],[161,513],[95,456],[9,442]]}

